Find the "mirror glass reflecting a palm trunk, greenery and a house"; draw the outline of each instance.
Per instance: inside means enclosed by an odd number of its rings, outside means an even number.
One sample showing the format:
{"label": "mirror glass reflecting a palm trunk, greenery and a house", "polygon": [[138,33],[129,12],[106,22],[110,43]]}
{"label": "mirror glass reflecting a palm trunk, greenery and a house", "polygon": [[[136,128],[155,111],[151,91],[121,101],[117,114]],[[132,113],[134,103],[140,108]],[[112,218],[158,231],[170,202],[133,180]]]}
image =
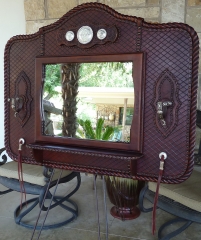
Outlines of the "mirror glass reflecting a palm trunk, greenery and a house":
{"label": "mirror glass reflecting a palm trunk, greenery and a house", "polygon": [[132,62],[43,66],[44,135],[130,142]]}

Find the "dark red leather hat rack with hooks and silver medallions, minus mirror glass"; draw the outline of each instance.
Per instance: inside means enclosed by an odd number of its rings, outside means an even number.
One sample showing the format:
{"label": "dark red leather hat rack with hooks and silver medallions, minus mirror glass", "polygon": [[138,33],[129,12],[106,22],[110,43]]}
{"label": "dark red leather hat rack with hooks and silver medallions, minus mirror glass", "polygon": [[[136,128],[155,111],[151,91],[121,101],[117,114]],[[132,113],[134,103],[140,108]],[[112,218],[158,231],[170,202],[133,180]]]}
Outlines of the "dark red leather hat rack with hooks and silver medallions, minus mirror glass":
{"label": "dark red leather hat rack with hooks and silver medallions, minus mirror glass", "polygon": [[[80,5],[35,34],[11,38],[5,48],[7,153],[17,160],[23,138],[24,163],[157,181],[160,162],[163,169],[165,161],[162,182],[184,181],[193,169],[198,50],[197,34],[186,24],[147,23],[99,3]],[[129,140],[46,134],[47,66],[97,62],[132,65]],[[70,105],[71,100],[63,103],[62,113]],[[71,127],[67,132],[72,131]]]}

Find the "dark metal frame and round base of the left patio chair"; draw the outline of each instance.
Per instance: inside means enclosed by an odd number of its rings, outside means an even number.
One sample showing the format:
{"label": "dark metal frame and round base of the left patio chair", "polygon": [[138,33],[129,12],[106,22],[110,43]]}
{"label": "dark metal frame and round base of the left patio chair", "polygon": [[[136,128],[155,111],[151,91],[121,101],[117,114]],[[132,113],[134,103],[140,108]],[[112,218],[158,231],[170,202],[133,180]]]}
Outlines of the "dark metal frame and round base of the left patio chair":
{"label": "dark metal frame and round base of the left patio chair", "polygon": [[[5,150],[5,148],[0,149],[0,155],[1,155],[1,153],[4,150]],[[7,156],[4,154],[1,158],[3,159],[3,161],[2,161],[2,163],[0,163],[0,165],[3,165],[7,161]],[[27,223],[23,222],[23,218],[34,207],[36,207],[38,204],[39,204],[39,207],[42,209],[42,211],[47,211],[48,210],[48,207],[46,207],[43,204],[43,199],[44,199],[45,193],[47,191],[46,199],[51,199],[52,198],[52,194],[50,192],[50,189],[57,184],[57,180],[54,180],[54,181],[52,181],[50,183],[50,185],[48,185],[48,179],[50,177],[49,172],[51,172],[51,171],[52,171],[52,169],[49,169],[49,168],[45,168],[44,171],[43,171],[44,177],[46,178],[46,182],[47,182],[44,186],[40,186],[40,185],[24,182],[24,188],[25,188],[26,193],[27,194],[32,194],[32,195],[38,195],[38,197],[35,197],[35,198],[32,198],[32,199],[30,199],[30,200],[28,200],[26,202],[23,202],[22,206],[19,205],[15,209],[15,211],[14,211],[14,219],[15,219],[16,224],[21,225],[21,226],[26,227],[26,228],[33,229],[34,225],[27,224]],[[66,225],[69,222],[72,222],[75,218],[77,218],[77,216],[78,216],[78,206],[77,206],[77,204],[74,201],[70,200],[69,198],[80,187],[80,184],[81,184],[80,173],[79,172],[72,172],[68,176],[62,177],[59,180],[58,184],[69,182],[69,181],[71,181],[74,178],[77,178],[77,184],[74,187],[74,189],[71,190],[71,192],[69,194],[67,194],[66,196],[64,196],[64,197],[54,196],[53,197],[53,202],[54,203],[50,206],[50,209],[55,208],[56,206],[60,206],[63,209],[69,211],[72,215],[68,219],[66,219],[66,220],[64,220],[62,222],[59,222],[59,223],[56,223],[56,224],[52,224],[52,225],[45,225],[43,227],[43,229],[51,229],[51,228],[61,227],[63,225]],[[11,192],[11,191],[21,192],[20,184],[19,184],[19,181],[17,179],[0,176],[0,183],[2,185],[4,185],[5,187],[9,188],[8,190],[0,192],[0,195],[6,194],[6,193]],[[29,204],[31,204],[31,203],[32,203],[32,205],[29,206]],[[70,204],[70,207],[65,205],[64,203]],[[26,210],[22,211],[23,207],[25,207],[25,206],[28,206],[28,207],[26,208]],[[37,230],[40,230],[40,228],[41,228],[40,225],[38,225],[36,227]]]}

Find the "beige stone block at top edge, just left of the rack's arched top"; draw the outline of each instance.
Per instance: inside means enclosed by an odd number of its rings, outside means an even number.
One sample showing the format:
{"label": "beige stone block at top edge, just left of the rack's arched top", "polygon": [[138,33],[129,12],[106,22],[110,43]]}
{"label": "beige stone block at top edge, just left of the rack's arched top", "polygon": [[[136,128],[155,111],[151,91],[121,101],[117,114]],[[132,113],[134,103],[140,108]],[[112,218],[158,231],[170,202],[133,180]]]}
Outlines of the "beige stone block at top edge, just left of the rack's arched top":
{"label": "beige stone block at top edge, just left of the rack's arched top", "polygon": [[77,6],[77,0],[48,0],[48,17],[49,18],[60,18],[66,12]]}

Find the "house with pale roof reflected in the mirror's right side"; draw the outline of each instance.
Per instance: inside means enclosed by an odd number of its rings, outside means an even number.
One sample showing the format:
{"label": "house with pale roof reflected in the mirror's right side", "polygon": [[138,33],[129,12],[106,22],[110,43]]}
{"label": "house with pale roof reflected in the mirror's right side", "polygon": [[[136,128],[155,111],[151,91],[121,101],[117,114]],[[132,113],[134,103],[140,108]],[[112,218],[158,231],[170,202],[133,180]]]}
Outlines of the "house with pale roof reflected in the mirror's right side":
{"label": "house with pale roof reflected in the mirror's right side", "polygon": [[118,127],[116,140],[128,141],[134,113],[134,88],[79,87],[78,98],[95,104],[96,119],[105,125]]}

